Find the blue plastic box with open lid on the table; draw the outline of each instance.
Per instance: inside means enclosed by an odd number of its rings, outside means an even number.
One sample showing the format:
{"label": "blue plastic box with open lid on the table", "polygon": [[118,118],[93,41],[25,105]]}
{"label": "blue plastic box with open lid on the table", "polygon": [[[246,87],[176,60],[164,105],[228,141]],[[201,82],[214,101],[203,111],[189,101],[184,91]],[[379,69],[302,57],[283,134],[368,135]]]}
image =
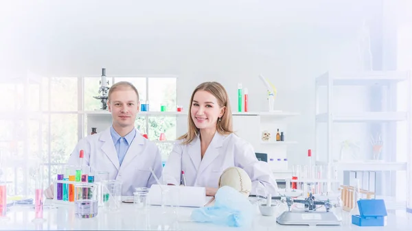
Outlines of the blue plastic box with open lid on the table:
{"label": "blue plastic box with open lid on the table", "polygon": [[360,215],[352,215],[356,226],[385,226],[387,210],[383,199],[358,200]]}

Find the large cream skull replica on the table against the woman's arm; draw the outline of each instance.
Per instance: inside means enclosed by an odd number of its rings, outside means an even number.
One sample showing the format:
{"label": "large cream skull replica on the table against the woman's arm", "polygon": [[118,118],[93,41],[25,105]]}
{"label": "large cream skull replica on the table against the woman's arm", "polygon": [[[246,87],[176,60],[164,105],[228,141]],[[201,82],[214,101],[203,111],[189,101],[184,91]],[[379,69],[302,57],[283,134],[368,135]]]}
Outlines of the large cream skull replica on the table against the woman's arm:
{"label": "large cream skull replica on the table against the woman's arm", "polygon": [[243,169],[229,167],[220,175],[219,188],[222,186],[231,186],[244,196],[249,197],[252,190],[252,181]]}

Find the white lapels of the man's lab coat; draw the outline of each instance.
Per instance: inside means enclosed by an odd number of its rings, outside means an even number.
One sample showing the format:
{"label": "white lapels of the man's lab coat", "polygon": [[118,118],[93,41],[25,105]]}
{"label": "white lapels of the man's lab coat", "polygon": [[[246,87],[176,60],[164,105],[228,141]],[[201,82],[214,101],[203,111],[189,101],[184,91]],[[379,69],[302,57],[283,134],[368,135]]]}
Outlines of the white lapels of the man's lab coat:
{"label": "white lapels of the man's lab coat", "polygon": [[[134,151],[132,152],[134,156],[130,156],[131,154],[128,154],[129,150],[133,149],[132,146],[144,145],[145,138],[141,136],[139,130],[137,130],[136,128],[135,130],[136,130],[136,136],[133,139],[132,143],[130,143],[130,147],[126,153],[126,156],[124,157],[123,162],[125,162],[125,160],[130,160],[131,158],[134,158],[135,156],[137,156],[137,153],[135,153]],[[113,165],[115,165],[116,169],[119,170],[120,169],[119,157],[117,156],[117,151],[113,143],[113,138],[111,137],[110,127],[108,127],[106,130],[104,130],[104,132],[102,132],[99,140],[103,141],[103,144],[101,147],[102,151],[111,160],[111,162],[113,162]],[[124,165],[126,165],[127,162],[128,161],[126,161]]]}

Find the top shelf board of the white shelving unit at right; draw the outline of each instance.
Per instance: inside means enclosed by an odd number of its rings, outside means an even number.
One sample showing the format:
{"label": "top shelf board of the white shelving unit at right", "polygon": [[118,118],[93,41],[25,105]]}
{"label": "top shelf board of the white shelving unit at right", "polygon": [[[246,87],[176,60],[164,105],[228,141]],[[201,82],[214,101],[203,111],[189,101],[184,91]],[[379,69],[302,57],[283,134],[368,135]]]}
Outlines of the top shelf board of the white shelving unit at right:
{"label": "top shelf board of the white shelving unit at right", "polygon": [[382,86],[407,80],[409,71],[326,72],[317,77],[317,85],[326,86],[329,77],[334,86]]}

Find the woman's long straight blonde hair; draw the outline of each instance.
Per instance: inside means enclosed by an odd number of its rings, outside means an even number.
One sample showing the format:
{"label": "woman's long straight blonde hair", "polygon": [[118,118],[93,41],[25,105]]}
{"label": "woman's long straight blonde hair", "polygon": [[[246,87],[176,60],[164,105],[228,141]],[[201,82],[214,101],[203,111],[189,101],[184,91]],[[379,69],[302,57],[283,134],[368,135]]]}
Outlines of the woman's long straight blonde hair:
{"label": "woman's long straight blonde hair", "polygon": [[177,138],[178,140],[184,140],[183,144],[188,144],[194,140],[194,138],[198,135],[199,129],[194,125],[194,121],[192,119],[192,114],[190,113],[192,110],[192,102],[194,98],[194,94],[198,90],[205,90],[218,100],[218,105],[220,108],[225,107],[225,112],[223,112],[222,117],[218,119],[216,123],[216,130],[219,134],[228,135],[233,133],[233,125],[232,125],[232,112],[229,103],[229,95],[227,95],[226,89],[219,84],[218,82],[204,82],[194,89],[192,93],[192,97],[190,98],[189,104],[189,114],[187,116],[187,133],[183,136]]}

